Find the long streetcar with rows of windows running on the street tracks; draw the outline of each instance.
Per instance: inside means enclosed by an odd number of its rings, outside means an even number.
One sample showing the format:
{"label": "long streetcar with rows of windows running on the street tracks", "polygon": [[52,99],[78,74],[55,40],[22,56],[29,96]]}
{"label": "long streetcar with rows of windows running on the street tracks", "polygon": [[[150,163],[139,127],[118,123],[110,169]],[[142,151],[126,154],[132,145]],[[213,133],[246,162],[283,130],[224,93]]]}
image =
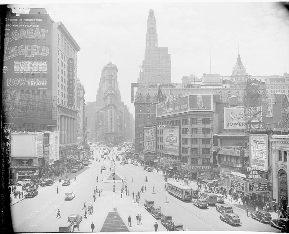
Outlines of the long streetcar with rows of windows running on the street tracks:
{"label": "long streetcar with rows of windows running on the street tracks", "polygon": [[176,181],[168,181],[168,193],[183,201],[191,201],[193,198],[193,189]]}

